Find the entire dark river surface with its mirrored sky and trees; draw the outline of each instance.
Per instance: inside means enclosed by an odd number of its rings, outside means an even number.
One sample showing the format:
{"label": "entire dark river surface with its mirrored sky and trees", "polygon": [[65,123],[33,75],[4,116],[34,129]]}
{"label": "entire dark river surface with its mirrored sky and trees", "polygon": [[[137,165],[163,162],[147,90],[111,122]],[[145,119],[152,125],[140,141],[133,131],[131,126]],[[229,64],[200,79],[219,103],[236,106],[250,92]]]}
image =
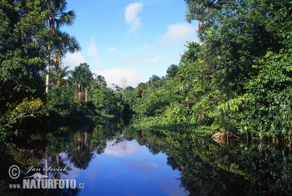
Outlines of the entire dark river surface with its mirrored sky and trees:
{"label": "entire dark river surface with its mirrored sky and trees", "polygon": [[292,195],[291,143],[107,122],[23,130],[0,149],[0,195]]}

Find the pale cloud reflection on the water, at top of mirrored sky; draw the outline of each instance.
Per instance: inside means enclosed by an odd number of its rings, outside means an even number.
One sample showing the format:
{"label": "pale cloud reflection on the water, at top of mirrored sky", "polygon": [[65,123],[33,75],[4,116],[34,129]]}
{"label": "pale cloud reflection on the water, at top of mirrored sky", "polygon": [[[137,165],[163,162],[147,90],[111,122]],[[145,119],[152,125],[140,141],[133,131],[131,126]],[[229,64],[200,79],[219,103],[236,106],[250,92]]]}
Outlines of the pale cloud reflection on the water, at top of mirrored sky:
{"label": "pale cloud reflection on the water, at top of mirrored sky", "polygon": [[120,145],[112,146],[112,141],[107,143],[107,148],[105,149],[105,155],[116,156],[116,157],[125,157],[129,155],[137,155],[142,150],[142,146],[140,146],[137,141],[127,141],[127,150],[121,150]]}

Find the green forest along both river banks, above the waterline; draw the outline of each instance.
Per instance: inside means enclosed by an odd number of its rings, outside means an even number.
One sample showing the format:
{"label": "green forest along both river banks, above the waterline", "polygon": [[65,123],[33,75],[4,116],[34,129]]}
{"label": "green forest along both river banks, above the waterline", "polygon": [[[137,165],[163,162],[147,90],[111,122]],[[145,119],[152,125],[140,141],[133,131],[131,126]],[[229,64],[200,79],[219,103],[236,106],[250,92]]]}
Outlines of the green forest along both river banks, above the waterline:
{"label": "green forest along both river banks, above the waterline", "polygon": [[[290,137],[292,2],[185,0],[200,43],[187,42],[180,63],[136,88],[106,79],[81,62],[77,39],[61,31],[76,14],[66,0],[0,1],[0,138],[34,118],[90,123],[102,115],[139,124],[188,125],[256,138]],[[51,120],[52,121],[52,120]]]}

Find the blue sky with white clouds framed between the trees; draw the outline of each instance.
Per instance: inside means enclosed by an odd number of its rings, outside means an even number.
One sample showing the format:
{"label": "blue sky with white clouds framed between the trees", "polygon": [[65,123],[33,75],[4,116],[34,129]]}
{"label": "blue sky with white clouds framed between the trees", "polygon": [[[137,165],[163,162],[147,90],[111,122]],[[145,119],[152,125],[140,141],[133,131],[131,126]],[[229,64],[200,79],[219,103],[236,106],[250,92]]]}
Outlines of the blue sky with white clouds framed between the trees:
{"label": "blue sky with white clouds framed between the trees", "polygon": [[127,79],[136,87],[153,74],[165,76],[178,64],[185,41],[197,41],[197,22],[188,24],[184,0],[68,0],[77,18],[61,30],[75,36],[82,51],[63,59],[70,69],[87,62],[110,84]]}

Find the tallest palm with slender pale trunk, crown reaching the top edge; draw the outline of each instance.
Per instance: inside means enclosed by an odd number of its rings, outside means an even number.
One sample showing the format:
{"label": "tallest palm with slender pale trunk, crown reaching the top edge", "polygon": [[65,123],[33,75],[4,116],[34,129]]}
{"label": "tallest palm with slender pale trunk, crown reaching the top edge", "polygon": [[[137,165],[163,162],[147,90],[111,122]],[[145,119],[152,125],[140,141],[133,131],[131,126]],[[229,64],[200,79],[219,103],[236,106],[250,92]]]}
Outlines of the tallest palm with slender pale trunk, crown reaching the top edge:
{"label": "tallest palm with slender pale trunk, crown reaching the top edge", "polygon": [[[57,37],[57,30],[63,25],[73,25],[73,21],[76,18],[73,10],[65,12],[67,10],[66,0],[43,0],[43,9],[47,11],[46,24],[47,28],[52,29],[52,37]],[[51,45],[48,46],[48,50],[51,50]],[[49,70],[50,70],[51,56],[48,57],[47,73],[46,73],[46,94],[49,92]]]}

